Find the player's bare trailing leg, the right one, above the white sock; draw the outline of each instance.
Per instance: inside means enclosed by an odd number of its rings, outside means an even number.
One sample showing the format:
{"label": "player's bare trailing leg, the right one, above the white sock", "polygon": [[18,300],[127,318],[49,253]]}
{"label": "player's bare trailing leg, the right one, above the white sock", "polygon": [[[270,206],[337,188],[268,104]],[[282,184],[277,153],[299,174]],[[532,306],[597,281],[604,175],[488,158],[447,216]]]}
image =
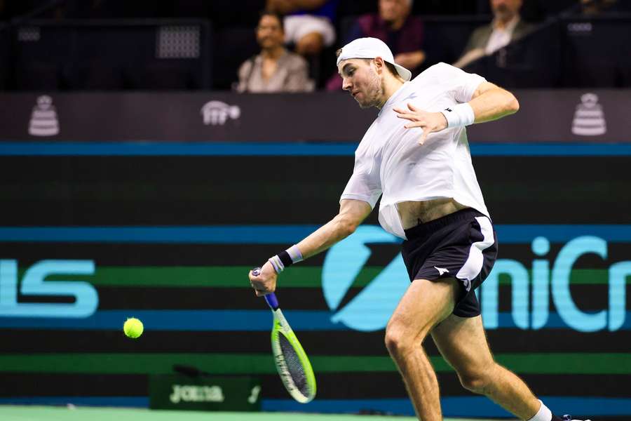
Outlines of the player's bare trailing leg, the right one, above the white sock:
{"label": "player's bare trailing leg, the right one, above the white sock", "polygon": [[541,403],[528,386],[493,359],[482,317],[450,315],[432,330],[432,338],[447,362],[456,370],[463,387],[484,394],[522,420],[533,417]]}

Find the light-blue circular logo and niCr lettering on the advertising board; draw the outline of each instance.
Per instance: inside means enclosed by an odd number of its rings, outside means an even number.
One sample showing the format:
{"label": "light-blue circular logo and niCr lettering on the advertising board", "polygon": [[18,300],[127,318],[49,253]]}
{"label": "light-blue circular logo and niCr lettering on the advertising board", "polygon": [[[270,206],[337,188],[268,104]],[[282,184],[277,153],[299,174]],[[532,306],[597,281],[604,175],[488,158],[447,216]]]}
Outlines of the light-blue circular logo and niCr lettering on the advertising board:
{"label": "light-blue circular logo and niCr lettering on the advertising board", "polygon": [[[517,226],[519,227],[519,226]],[[548,227],[548,228],[545,228]],[[554,231],[555,226],[543,226]],[[576,226],[580,227],[580,226]],[[498,227],[501,239],[501,227]],[[331,320],[354,330],[372,331],[386,327],[388,319],[409,286],[407,270],[398,254],[360,293],[342,305],[349,288],[368,261],[369,243],[398,243],[400,240],[381,227],[365,225],[355,234],[333,246],[327,254],[322,272],[322,286]],[[583,255],[607,258],[607,242],[599,236],[583,235],[566,241],[554,261],[543,257],[550,250],[550,241],[537,236],[531,250],[538,258],[527,268],[513,259],[499,259],[482,287],[480,304],[487,329],[543,327],[571,328],[582,332],[618,330],[625,326],[626,279],[631,276],[631,261],[614,262],[603,269],[605,279],[589,280],[599,284],[608,298],[604,309],[587,311],[576,305],[571,291],[571,276],[576,261]],[[438,269],[438,268],[437,268]],[[440,270],[440,269],[439,269]],[[500,276],[508,276],[512,293],[510,313],[499,312]],[[481,291],[480,291],[481,290]],[[550,312],[550,303],[556,313]]]}

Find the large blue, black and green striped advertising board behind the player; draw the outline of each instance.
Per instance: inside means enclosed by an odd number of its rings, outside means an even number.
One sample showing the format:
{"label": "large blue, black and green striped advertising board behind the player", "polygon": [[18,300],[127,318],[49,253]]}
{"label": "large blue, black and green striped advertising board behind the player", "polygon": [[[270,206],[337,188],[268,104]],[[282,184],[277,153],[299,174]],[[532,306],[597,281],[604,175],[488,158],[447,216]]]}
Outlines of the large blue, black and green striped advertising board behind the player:
{"label": "large blue, black and green striped advertising board behind the player", "polygon": [[[412,415],[384,346],[409,281],[376,213],[280,276],[318,380],[310,403],[280,382],[271,313],[247,279],[337,213],[355,146],[0,148],[0,403]],[[498,233],[479,288],[496,360],[558,413],[628,420],[631,147],[471,151]],[[122,331],[132,316],[136,340]],[[510,416],[423,346],[445,416]],[[182,363],[211,377],[174,377]]]}

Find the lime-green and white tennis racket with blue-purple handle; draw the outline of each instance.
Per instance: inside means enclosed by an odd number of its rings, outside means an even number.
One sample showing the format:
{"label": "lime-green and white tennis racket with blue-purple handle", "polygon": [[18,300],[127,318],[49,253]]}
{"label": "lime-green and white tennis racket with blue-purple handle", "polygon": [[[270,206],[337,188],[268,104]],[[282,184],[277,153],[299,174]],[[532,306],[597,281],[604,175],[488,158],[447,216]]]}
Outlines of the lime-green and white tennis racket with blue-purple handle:
{"label": "lime-green and white tennis racket with blue-purple handle", "polygon": [[[260,273],[260,267],[252,269],[254,276]],[[271,293],[264,297],[274,316],[271,342],[280,380],[283,380],[283,385],[292,398],[300,403],[310,402],[315,398],[315,375],[311,363],[283,312],[280,311],[276,295]]]}

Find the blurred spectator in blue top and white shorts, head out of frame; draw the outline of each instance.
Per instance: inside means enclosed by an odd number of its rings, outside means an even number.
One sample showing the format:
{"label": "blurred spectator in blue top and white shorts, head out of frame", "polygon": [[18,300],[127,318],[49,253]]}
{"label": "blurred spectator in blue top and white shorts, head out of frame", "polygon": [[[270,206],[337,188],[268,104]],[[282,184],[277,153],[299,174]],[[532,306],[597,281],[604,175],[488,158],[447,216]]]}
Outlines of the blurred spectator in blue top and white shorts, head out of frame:
{"label": "blurred spectator in blue top and white shorts, head out of frame", "polygon": [[301,55],[318,55],[335,42],[339,0],[266,0],[267,10],[285,15],[285,42]]}

